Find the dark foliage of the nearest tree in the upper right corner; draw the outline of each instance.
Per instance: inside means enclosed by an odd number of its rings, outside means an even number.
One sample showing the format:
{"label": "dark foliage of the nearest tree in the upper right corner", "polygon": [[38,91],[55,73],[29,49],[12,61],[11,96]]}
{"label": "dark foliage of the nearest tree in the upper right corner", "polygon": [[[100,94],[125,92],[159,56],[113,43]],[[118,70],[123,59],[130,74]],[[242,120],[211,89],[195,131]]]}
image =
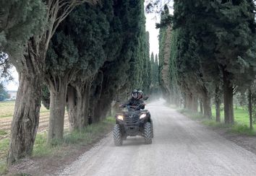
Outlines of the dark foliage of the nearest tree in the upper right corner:
{"label": "dark foliage of the nearest tree in the upper right corner", "polygon": [[189,30],[206,79],[218,79],[224,70],[236,85],[248,82],[249,65],[255,65],[247,56],[255,47],[252,1],[176,1],[174,9],[174,26]]}

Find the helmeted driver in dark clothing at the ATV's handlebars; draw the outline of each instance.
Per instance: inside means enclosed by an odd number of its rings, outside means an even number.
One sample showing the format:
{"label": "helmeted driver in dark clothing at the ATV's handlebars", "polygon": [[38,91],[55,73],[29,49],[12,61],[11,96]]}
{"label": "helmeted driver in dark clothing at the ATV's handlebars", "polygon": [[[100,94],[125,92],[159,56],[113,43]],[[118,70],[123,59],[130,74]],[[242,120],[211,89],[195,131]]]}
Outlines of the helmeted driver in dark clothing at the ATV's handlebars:
{"label": "helmeted driver in dark clothing at the ATV's handlebars", "polygon": [[137,89],[134,89],[132,91],[132,98],[129,99],[126,103],[124,103],[123,105],[120,105],[120,107],[126,107],[126,106],[130,106],[133,109],[135,109],[136,107],[138,107],[139,105],[141,105],[140,109],[144,109],[145,108],[145,103],[140,100],[140,96],[139,96],[139,92],[137,91]]}

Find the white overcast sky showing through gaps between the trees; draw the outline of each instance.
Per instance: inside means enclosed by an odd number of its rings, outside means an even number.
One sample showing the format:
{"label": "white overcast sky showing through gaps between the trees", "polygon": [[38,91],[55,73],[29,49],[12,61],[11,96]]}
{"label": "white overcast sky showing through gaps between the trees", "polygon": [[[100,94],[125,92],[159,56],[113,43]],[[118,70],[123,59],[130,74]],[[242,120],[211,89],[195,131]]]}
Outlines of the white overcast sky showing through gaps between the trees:
{"label": "white overcast sky showing through gaps between the trees", "polygon": [[[173,14],[172,9],[170,9],[170,13]],[[158,50],[159,50],[159,46],[158,46],[159,30],[155,29],[155,23],[160,22],[160,14],[152,13],[152,14],[145,14],[145,16],[146,16],[146,30],[150,33],[150,54],[151,52],[153,52],[155,56],[155,54],[158,54]],[[7,90],[18,89],[18,86],[19,86],[18,74],[15,69],[12,69],[12,76],[14,77],[14,81],[9,82],[6,85]]]}

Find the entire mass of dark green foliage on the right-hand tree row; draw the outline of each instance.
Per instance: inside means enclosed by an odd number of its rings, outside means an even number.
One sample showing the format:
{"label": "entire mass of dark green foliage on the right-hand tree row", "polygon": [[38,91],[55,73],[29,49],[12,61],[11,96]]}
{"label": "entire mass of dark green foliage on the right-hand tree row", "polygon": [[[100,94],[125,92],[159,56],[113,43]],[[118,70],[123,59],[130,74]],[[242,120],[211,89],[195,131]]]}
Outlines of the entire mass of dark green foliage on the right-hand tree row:
{"label": "entire mass of dark green foliage on the right-hand tree row", "polygon": [[[179,100],[175,95],[181,94],[186,106],[198,97],[206,100],[222,84],[239,91],[249,86],[256,66],[254,11],[255,5],[246,0],[174,1],[173,23],[161,26],[159,35],[162,72],[171,42],[169,82],[161,78],[171,100]],[[161,13],[163,23],[168,17],[166,8]],[[170,26],[171,41],[166,41]],[[230,92],[226,89],[225,95]]]}

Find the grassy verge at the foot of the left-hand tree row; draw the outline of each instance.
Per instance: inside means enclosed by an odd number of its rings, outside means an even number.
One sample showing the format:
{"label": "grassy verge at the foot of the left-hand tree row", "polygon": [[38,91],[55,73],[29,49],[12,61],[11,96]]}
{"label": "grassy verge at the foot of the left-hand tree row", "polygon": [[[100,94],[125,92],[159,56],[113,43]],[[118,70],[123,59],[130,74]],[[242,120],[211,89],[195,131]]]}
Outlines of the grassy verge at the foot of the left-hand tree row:
{"label": "grassy verge at the foot of the left-hand tree row", "polygon": [[[106,118],[100,123],[87,126],[82,131],[64,131],[61,141],[54,141],[52,146],[47,144],[47,133],[38,133],[35,138],[33,157],[64,157],[72,148],[89,146],[108,133],[114,126],[113,117]],[[7,173],[7,153],[9,138],[0,141],[0,175]]]}

